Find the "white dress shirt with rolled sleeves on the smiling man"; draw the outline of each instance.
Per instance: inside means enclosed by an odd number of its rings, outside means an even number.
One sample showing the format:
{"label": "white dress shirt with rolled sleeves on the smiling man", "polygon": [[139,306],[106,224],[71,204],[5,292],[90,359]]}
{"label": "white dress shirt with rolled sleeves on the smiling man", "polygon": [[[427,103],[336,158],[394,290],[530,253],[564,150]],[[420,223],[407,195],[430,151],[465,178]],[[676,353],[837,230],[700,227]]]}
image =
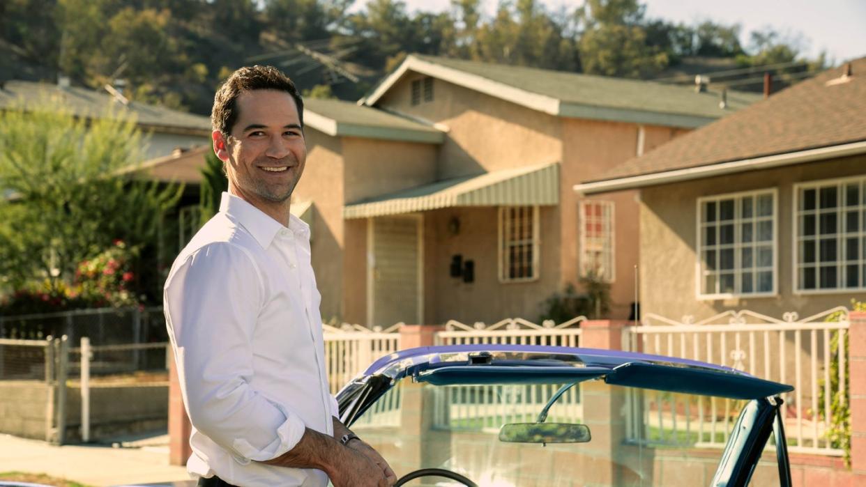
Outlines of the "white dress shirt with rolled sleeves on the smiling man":
{"label": "white dress shirt with rolled sleeves on the smiling man", "polygon": [[190,416],[187,470],[229,484],[324,486],[314,469],[264,465],[305,427],[333,435],[321,296],[309,227],[288,228],[235,195],[178,255],[165,281],[165,323]]}

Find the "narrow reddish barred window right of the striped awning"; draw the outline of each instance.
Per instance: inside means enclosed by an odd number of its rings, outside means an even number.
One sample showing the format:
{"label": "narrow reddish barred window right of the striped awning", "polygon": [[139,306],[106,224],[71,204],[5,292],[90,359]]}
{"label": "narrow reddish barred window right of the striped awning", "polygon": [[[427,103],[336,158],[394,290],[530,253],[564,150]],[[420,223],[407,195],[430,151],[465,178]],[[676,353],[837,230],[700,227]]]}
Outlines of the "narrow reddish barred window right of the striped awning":
{"label": "narrow reddish barred window right of the striped awning", "polygon": [[580,202],[580,275],[613,282],[613,202]]}

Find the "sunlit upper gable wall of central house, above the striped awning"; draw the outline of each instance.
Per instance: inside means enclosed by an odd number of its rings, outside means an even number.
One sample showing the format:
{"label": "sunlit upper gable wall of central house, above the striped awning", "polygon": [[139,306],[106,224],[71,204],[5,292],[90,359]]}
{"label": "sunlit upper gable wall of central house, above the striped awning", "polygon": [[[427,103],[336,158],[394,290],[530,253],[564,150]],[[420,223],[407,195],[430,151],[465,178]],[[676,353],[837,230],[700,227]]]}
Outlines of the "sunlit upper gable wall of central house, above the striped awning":
{"label": "sunlit upper gable wall of central house, above the striped awning", "polygon": [[377,106],[448,128],[439,153],[438,179],[559,161],[559,119],[444,80],[433,81],[433,101],[411,105],[407,74]]}

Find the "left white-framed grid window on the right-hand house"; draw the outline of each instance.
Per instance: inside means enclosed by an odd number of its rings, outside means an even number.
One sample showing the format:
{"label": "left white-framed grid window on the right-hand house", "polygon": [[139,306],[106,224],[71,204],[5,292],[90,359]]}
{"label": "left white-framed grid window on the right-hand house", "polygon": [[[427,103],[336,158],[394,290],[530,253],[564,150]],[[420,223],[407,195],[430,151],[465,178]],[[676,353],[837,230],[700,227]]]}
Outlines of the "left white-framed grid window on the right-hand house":
{"label": "left white-framed grid window on the right-hand house", "polygon": [[775,294],[776,207],[775,189],[698,200],[701,296]]}

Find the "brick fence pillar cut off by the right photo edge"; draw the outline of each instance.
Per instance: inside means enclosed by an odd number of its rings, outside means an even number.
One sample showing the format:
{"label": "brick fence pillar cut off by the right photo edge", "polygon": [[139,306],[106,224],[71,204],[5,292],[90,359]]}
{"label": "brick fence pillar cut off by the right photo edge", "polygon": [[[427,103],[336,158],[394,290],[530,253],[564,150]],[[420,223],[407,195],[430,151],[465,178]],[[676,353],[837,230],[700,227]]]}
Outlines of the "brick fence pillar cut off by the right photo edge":
{"label": "brick fence pillar cut off by the right photo edge", "polygon": [[849,319],[851,470],[866,481],[866,312],[851,311]]}

